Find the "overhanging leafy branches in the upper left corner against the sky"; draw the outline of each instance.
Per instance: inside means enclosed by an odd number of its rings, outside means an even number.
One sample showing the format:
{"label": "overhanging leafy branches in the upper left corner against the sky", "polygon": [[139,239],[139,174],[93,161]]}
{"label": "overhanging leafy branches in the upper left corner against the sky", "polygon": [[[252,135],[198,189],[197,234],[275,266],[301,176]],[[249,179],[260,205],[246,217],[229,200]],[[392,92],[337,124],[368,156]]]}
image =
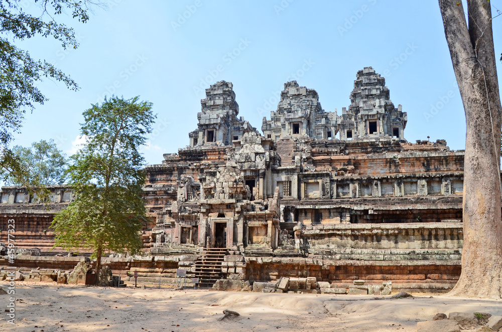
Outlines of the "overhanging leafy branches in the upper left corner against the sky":
{"label": "overhanging leafy branches in the upper left corner against the sky", "polygon": [[69,89],[78,85],[52,64],[35,60],[15,43],[35,36],[53,37],[63,48],[77,48],[74,31],[59,24],[53,16],[69,10],[79,22],[87,22],[89,0],[34,0],[32,5],[40,15],[24,11],[22,0],[0,1],[0,169],[9,172],[21,182],[26,180],[21,160],[10,149],[13,135],[20,131],[26,110],[34,109],[34,103],[43,104],[47,98],[37,87],[43,78],[63,82]]}

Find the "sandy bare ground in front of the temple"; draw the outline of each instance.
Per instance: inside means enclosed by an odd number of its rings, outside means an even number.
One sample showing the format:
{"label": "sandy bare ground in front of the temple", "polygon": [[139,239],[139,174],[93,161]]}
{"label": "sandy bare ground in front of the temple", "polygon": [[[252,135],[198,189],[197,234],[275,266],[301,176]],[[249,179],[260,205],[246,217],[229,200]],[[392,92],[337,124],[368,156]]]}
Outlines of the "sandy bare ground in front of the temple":
{"label": "sandy bare ground in front of the temple", "polygon": [[[8,296],[12,295],[0,295],[5,307]],[[375,300],[364,295],[57,287],[25,282],[17,283],[16,299],[16,324],[7,323],[7,312],[0,307],[0,331],[415,331],[418,321],[431,320],[438,312],[502,315],[502,301],[446,296]],[[220,321],[224,309],[240,316]]]}

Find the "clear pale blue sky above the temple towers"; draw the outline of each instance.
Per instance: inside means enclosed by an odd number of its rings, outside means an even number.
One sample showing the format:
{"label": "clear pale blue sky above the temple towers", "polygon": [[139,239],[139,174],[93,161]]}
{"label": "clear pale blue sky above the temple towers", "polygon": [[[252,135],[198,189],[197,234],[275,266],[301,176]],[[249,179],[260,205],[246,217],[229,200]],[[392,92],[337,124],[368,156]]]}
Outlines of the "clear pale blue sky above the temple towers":
{"label": "clear pale blue sky above the temple towers", "polygon": [[[91,103],[111,93],[140,95],[158,114],[142,150],[147,163],[160,163],[163,153],[189,143],[209,84],[232,82],[239,115],[261,130],[287,80],[315,89],[323,109],[341,115],[357,70],[372,66],[396,107],[408,112],[406,139],[430,136],[452,149],[465,146],[465,116],[436,1],[106,3],[86,24],[61,19],[80,40],[76,50],[45,38],[19,43],[34,58],[56,63],[80,90],[41,83],[49,101],[26,115],[15,144],[53,138],[71,154]],[[502,9],[499,1],[491,4],[493,13],[493,6]],[[501,20],[493,22],[498,55]]]}

